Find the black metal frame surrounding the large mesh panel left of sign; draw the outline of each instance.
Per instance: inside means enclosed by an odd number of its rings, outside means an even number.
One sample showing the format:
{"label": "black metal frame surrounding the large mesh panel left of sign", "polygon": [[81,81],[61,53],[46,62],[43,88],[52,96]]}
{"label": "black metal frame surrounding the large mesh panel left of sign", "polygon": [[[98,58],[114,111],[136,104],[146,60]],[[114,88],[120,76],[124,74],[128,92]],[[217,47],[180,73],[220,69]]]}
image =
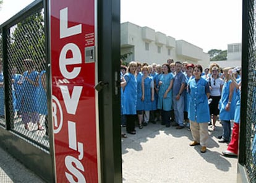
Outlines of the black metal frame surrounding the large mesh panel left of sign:
{"label": "black metal frame surrounding the large mesh panel left of sign", "polygon": [[[10,155],[15,157],[20,163],[22,163],[25,167],[30,169],[31,171],[35,172],[41,179],[45,180],[46,182],[54,182],[54,164],[53,164],[53,135],[49,135],[49,151],[38,147],[38,145],[32,145],[29,140],[21,137],[19,134],[15,134],[12,132],[12,122],[13,117],[10,115],[11,107],[8,106],[10,103],[10,96],[9,96],[9,87],[11,86],[11,81],[8,80],[8,57],[7,57],[7,30],[8,28],[12,27],[16,23],[19,23],[23,17],[28,17],[29,15],[33,14],[33,12],[43,9],[45,10],[45,23],[46,18],[48,15],[46,14],[46,4],[47,0],[36,0],[29,4],[27,7],[22,9],[22,11],[15,14],[11,19],[7,20],[6,22],[2,23],[0,29],[2,30],[2,40],[3,40],[3,72],[4,72],[4,96],[5,96],[5,104],[6,104],[6,128],[0,127],[0,145],[1,147],[6,150]],[[45,29],[45,33],[46,33]],[[46,36],[47,37],[47,36]],[[46,45],[48,41],[46,40]],[[46,47],[47,49],[47,47]],[[46,56],[48,55],[46,50]],[[47,61],[47,66],[48,66]],[[48,67],[46,67],[47,72],[49,73]],[[49,86],[48,86],[49,88]],[[48,90],[51,91],[51,90]],[[48,92],[48,96],[51,95]],[[49,103],[49,100],[48,100]],[[49,108],[48,108],[49,109]],[[51,111],[51,110],[50,110]],[[51,114],[51,113],[50,113]],[[51,116],[51,115],[49,115]],[[51,117],[49,117],[50,119]],[[49,125],[52,123],[49,121]],[[51,134],[52,127],[49,127],[49,134]]]}

